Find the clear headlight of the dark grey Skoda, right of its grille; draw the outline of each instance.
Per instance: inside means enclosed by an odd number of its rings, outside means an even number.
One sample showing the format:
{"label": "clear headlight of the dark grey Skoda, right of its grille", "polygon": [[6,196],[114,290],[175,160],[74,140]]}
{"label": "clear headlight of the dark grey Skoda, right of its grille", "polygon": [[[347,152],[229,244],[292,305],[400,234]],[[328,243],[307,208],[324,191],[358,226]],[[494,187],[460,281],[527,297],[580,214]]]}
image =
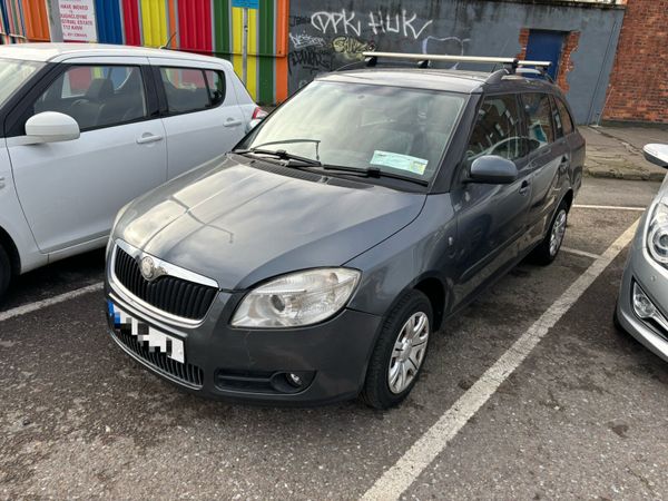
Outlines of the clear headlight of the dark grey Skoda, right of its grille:
{"label": "clear headlight of the dark grey Skoda, right of its grille", "polygon": [[322,322],[350,299],[361,273],[318,268],[291,273],[248,293],[237,307],[235,327],[295,327]]}

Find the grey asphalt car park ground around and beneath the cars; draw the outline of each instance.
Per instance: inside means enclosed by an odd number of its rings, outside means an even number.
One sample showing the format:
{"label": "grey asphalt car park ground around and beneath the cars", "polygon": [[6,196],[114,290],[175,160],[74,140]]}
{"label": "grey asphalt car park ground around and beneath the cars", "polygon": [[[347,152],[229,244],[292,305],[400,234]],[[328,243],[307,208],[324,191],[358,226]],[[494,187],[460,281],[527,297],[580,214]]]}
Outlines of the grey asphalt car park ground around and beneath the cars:
{"label": "grey asphalt car park ground around and beneath the cars", "polygon": [[566,252],[449,322],[389,412],[188,395],[108,337],[101,253],[28,274],[0,307],[0,498],[668,497],[668,365],[611,320],[620,207],[657,189],[586,179]]}

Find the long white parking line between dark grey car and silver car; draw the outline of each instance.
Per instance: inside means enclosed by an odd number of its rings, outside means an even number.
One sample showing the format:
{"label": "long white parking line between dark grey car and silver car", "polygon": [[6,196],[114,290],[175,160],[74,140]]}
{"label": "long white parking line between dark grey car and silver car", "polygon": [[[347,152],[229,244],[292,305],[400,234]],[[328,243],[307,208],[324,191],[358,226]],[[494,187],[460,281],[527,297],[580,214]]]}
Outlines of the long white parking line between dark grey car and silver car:
{"label": "long white parking line between dark grey car and silver car", "polygon": [[385,470],[362,499],[394,500],[411,487],[413,481],[445,449],[466,422],[485,404],[501,383],[529,356],[551,327],[582,296],[584,291],[603,273],[619,253],[633,238],[638,220],[633,223],[573,284],[538,318],[522,336],[466,391],[452,407],[433,424],[399,459]]}

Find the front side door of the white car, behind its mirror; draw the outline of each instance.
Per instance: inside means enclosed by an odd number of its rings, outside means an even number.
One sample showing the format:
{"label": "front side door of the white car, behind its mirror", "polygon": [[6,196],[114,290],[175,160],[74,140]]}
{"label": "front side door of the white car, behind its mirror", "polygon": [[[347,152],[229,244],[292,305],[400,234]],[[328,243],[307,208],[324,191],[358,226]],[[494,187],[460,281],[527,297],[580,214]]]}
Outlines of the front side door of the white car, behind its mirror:
{"label": "front side door of the white car, behind its mirror", "polygon": [[[165,129],[146,58],[72,59],[32,92],[7,139],[17,193],[42,253],[99,243],[118,209],[167,176]],[[78,139],[26,145],[43,111],[71,116]]]}

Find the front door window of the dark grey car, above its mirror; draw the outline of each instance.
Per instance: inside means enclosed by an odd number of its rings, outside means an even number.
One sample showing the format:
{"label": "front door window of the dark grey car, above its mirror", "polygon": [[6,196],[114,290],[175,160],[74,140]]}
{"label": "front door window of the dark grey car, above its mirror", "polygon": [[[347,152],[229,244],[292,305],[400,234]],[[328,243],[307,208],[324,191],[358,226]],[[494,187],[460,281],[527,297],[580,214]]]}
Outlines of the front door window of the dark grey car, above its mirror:
{"label": "front door window of the dark grey car, above its mirror", "polygon": [[483,155],[498,155],[515,160],[524,155],[523,143],[515,96],[491,96],[478,111],[466,159],[472,161]]}

